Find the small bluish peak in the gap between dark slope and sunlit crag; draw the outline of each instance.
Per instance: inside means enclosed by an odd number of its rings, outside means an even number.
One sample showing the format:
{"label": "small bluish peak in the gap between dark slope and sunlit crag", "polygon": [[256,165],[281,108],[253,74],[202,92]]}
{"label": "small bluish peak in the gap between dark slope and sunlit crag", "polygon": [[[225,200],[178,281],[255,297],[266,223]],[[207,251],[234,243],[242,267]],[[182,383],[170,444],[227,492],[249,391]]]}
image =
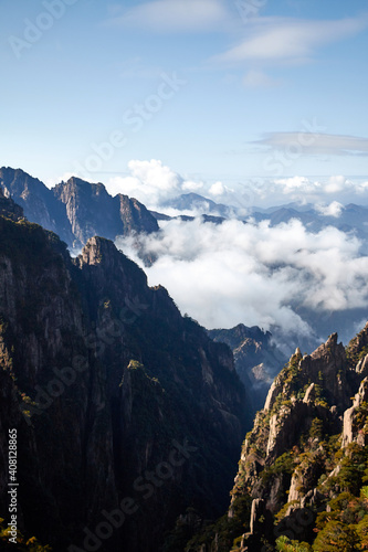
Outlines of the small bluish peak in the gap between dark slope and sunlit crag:
{"label": "small bluish peak in the gap between dark slope and sunlit crag", "polygon": [[229,330],[209,330],[213,341],[227,343],[234,354],[235,369],[246,390],[250,422],[264,404],[270,385],[286,358],[272,340],[270,331],[239,323]]}

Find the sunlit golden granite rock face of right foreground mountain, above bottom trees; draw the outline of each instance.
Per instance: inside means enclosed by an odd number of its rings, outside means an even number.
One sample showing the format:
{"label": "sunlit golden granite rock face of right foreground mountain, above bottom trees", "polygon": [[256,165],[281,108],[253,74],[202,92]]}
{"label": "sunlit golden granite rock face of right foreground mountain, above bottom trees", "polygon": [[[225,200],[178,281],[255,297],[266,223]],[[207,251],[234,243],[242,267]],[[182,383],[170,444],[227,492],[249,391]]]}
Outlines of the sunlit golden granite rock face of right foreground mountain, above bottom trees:
{"label": "sunlit golden granite rock face of right foreground mountain, above bottom trees", "polygon": [[311,355],[296,349],[274,380],[231,492],[229,520],[249,516],[241,551],[262,551],[265,539],[274,545],[282,534],[312,543],[317,512],[330,511],[347,489],[359,496],[368,468],[367,347],[368,325],[347,348],[333,333]]}

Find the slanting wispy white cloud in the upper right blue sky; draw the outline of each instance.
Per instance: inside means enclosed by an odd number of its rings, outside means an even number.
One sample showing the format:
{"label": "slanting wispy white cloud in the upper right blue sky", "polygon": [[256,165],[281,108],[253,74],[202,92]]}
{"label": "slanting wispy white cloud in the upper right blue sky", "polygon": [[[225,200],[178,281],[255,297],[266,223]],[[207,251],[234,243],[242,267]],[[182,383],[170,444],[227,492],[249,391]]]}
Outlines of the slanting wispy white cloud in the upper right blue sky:
{"label": "slanting wispy white cloud in the upper right blue sky", "polygon": [[286,18],[254,18],[242,42],[212,59],[219,63],[292,61],[304,63],[316,50],[359,33],[367,18],[307,21]]}

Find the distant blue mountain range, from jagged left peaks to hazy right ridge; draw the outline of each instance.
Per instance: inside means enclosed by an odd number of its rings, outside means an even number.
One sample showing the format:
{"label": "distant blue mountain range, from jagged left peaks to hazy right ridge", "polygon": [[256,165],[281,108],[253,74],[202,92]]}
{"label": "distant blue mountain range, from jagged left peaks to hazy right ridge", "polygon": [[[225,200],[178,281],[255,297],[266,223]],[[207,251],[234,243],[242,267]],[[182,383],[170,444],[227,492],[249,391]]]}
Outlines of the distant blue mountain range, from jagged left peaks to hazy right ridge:
{"label": "distant blue mountain range, from jagged left peaks to hazy right ridge", "polygon": [[[341,208],[339,216],[326,215],[311,204],[286,205],[262,209],[244,209],[215,203],[198,193],[185,193],[162,203],[162,209],[171,208],[190,214],[170,216],[157,211],[148,211],[134,198],[117,194],[114,198],[102,183],[91,183],[72,177],[49,189],[40,180],[21,169],[1,168],[0,187],[6,197],[11,197],[21,205],[29,221],[51,230],[70,247],[82,247],[90,237],[102,235],[108,240],[129,235],[134,232],[153,233],[159,230],[158,221],[180,219],[192,221],[202,216],[204,222],[221,224],[228,219],[243,222],[270,221],[272,226],[288,223],[292,219],[301,221],[309,232],[319,232],[334,226],[346,233],[354,233],[365,240],[368,236],[368,208],[353,203]],[[368,245],[362,246],[362,252]]]}

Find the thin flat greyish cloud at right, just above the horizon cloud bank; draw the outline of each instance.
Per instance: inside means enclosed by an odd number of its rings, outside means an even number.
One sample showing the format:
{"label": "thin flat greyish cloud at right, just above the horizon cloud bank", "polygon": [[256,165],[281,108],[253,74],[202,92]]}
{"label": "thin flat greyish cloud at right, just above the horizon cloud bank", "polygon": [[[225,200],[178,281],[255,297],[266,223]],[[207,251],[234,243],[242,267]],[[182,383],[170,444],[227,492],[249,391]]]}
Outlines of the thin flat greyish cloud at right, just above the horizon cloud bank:
{"label": "thin flat greyish cloud at right, just above the horizon cloud bank", "polygon": [[[333,156],[368,156],[368,138],[346,135],[311,134],[311,132],[270,132],[261,140],[259,146],[285,150],[291,144],[298,144],[303,139],[304,155],[333,155]],[[313,139],[308,139],[313,138]]]}

